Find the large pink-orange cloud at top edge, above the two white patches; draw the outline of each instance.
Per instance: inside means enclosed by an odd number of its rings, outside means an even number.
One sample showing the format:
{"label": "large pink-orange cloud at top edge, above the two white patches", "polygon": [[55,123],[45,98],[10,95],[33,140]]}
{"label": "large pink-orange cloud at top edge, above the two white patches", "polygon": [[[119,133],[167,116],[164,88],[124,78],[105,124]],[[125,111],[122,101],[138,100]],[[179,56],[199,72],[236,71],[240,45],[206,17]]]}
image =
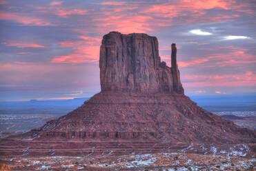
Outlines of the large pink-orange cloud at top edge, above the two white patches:
{"label": "large pink-orange cloud at top edge, above the two white patches", "polygon": [[[224,10],[233,10],[236,7],[234,1],[220,1],[220,0],[184,0],[184,1],[168,1],[166,3],[159,3],[157,5],[148,6],[139,11],[141,14],[150,15],[152,18],[157,17],[157,22],[154,23],[155,26],[171,26],[173,23],[185,22],[217,22],[217,21],[232,21],[239,14],[215,14],[215,16],[207,15],[206,10],[221,8]],[[174,20],[175,17],[184,18],[181,21]]]}

